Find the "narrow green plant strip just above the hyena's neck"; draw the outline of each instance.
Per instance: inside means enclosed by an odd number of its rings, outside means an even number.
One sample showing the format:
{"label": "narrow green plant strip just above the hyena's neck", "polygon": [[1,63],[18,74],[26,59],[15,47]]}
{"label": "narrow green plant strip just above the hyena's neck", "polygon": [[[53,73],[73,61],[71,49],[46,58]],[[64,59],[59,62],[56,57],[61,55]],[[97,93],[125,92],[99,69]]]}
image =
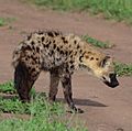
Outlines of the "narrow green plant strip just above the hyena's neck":
{"label": "narrow green plant strip just above the hyena's neck", "polygon": [[82,39],[88,42],[89,44],[92,44],[97,47],[101,47],[101,48],[111,48],[113,47],[114,45],[113,44],[110,44],[109,42],[101,42],[101,41],[98,41],[94,37],[90,37],[88,35],[84,35]]}

